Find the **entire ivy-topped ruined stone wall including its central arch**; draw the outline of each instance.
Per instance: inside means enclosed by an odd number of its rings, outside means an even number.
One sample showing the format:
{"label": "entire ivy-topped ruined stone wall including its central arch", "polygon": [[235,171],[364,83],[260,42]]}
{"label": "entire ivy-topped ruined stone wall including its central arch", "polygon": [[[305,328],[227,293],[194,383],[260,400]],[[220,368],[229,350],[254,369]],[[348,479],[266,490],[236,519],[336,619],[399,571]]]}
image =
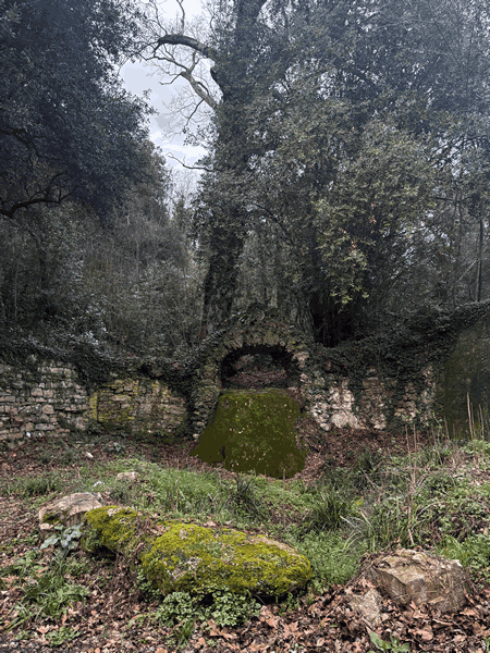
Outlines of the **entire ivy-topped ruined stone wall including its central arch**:
{"label": "entire ivy-topped ruined stone wall including its central arch", "polygon": [[[0,355],[0,439],[94,424],[197,440],[223,389],[283,387],[320,429],[422,427],[488,419],[490,303],[418,316],[395,335],[326,349],[280,316],[255,309],[203,343],[186,369],[136,361],[87,382],[76,361]],[[95,356],[95,354],[93,354]],[[179,382],[169,369],[180,370]],[[81,371],[82,370],[82,371]]]}

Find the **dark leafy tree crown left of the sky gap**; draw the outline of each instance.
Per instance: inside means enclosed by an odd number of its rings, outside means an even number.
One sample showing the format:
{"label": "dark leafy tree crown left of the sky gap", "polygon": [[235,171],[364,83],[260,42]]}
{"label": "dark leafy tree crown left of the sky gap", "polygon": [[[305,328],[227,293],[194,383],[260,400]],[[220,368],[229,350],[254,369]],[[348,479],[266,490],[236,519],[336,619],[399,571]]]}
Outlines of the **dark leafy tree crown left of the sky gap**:
{"label": "dark leafy tree crown left of the sky gap", "polygon": [[139,177],[148,108],[122,89],[130,1],[0,1],[0,213],[64,199],[108,211]]}

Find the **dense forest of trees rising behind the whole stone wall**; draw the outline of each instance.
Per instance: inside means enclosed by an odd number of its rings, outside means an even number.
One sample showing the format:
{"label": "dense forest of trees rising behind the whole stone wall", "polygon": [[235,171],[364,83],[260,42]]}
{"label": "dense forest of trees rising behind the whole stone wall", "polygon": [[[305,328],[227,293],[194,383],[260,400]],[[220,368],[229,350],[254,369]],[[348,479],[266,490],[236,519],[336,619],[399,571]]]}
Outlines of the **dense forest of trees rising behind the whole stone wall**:
{"label": "dense forest of trees rising behind the whole stone wall", "polygon": [[[180,356],[252,304],[328,346],[490,298],[485,0],[0,0],[4,334]],[[197,189],[119,71],[182,77]]]}

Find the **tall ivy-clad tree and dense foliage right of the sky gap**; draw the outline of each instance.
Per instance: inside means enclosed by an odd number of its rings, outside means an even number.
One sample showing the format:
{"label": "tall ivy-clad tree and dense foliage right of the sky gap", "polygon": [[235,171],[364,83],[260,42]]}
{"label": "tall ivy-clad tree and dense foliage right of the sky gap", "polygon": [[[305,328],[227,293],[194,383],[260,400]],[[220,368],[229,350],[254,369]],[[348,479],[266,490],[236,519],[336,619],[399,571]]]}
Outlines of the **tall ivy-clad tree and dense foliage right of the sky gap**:
{"label": "tall ivy-clad tree and dense foliage right of the sky gap", "polygon": [[211,65],[208,332],[250,295],[326,344],[483,297],[487,3],[220,1],[200,38],[148,7],[166,78]]}

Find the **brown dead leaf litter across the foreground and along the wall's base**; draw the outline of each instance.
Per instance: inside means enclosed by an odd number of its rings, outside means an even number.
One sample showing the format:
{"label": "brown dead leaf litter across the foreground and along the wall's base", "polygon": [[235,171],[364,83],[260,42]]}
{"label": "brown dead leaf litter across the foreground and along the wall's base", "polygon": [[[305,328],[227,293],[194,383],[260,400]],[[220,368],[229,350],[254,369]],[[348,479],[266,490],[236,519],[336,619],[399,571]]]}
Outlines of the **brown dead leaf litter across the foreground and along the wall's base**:
{"label": "brown dead leaf litter across the foreground and along the wall's base", "polygon": [[[314,480],[320,460],[327,455],[336,465],[347,465],[356,452],[368,446],[389,453],[406,451],[406,440],[392,434],[350,432],[344,438],[330,436],[321,446],[310,447],[309,460],[302,472],[304,480]],[[346,447],[348,441],[353,447]],[[40,443],[41,444],[41,443]],[[39,441],[38,441],[39,446]],[[134,444],[142,455],[142,443]],[[148,449],[150,449],[148,445]],[[127,455],[132,455],[128,446]],[[114,454],[94,452],[97,459],[111,460]],[[169,467],[206,469],[207,466],[188,456],[177,445],[159,447],[160,463]],[[85,461],[86,463],[86,461]],[[0,458],[0,483],[12,478],[36,476],[40,471],[72,473],[76,465],[49,465],[38,459],[33,443],[19,446]],[[233,476],[223,470],[223,476]],[[33,551],[33,533],[38,530],[37,509],[32,500],[0,496],[0,552],[2,568],[9,567]],[[49,551],[39,552],[35,574],[39,576],[49,566]],[[76,552],[72,558],[84,554]],[[186,642],[175,643],[179,626],[168,627],[156,621],[157,603],[148,603],[136,587],[135,575],[120,562],[95,559],[83,567],[74,582],[86,588],[85,602],[68,606],[59,619],[34,616],[22,627],[8,630],[15,619],[22,589],[17,577],[0,572],[0,651],[47,653],[309,653],[333,651],[339,653],[368,653],[373,650],[369,626],[350,603],[353,593],[364,594],[369,584],[358,577],[344,586],[333,586],[321,595],[311,593],[301,597],[294,609],[283,612],[281,605],[262,605],[259,615],[236,628],[220,628],[212,620],[196,623]],[[32,571],[29,571],[32,574]],[[28,580],[28,579],[27,579]],[[64,630],[63,630],[64,629]],[[70,634],[68,634],[70,633]],[[433,653],[483,653],[490,642],[490,584],[479,584],[468,596],[467,606],[458,614],[439,615],[415,604],[400,606],[389,597],[382,599],[381,626],[376,633],[385,642],[408,643],[409,651]],[[57,640],[57,636],[60,636]],[[63,641],[63,634],[65,636]],[[23,639],[22,639],[23,638]],[[66,641],[68,639],[71,641]],[[56,643],[56,642],[61,643]],[[393,650],[393,649],[387,649]]]}

